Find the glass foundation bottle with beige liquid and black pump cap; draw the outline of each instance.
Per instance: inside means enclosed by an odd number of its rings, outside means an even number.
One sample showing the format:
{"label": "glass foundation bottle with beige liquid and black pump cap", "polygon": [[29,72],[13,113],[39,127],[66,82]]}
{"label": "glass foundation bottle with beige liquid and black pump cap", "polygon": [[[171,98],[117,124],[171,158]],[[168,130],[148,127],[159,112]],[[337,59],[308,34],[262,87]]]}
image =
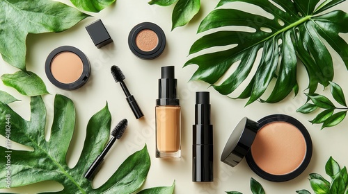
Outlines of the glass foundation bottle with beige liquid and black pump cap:
{"label": "glass foundation bottle with beige liquid and black pump cap", "polygon": [[181,107],[174,66],[161,67],[156,100],[156,157],[181,157]]}

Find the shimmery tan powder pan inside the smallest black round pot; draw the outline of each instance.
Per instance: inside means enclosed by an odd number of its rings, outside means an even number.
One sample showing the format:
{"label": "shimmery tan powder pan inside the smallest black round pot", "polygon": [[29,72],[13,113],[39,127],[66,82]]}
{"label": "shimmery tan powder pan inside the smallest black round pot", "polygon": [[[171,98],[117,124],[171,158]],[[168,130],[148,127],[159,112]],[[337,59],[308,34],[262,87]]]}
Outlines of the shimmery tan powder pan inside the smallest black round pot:
{"label": "shimmery tan powder pan inside the smallest black round pot", "polygon": [[158,36],[153,30],[144,29],[136,35],[136,46],[141,51],[152,51],[156,48],[157,44]]}

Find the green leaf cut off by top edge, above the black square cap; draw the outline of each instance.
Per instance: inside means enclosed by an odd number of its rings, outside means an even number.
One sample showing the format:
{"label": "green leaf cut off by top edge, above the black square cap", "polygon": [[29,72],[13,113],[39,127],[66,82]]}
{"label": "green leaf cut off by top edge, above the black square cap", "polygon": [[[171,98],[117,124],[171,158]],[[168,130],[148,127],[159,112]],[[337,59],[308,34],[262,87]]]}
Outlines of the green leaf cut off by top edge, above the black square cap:
{"label": "green leaf cut off by top edge, above the black square cap", "polygon": [[74,6],[88,12],[100,12],[116,0],[70,0]]}

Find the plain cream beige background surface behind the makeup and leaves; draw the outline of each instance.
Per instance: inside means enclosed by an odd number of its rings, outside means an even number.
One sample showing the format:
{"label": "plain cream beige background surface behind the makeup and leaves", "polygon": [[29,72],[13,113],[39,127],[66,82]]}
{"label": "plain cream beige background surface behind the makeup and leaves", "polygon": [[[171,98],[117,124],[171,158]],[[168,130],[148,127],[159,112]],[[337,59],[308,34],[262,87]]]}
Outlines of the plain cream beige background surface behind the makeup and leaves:
{"label": "plain cream beige background surface behind the makeup and leaves", "polygon": [[[65,1],[69,5],[69,1]],[[37,73],[44,80],[51,95],[43,96],[47,106],[48,121],[47,126],[52,125],[53,100],[54,94],[63,94],[74,101],[77,110],[77,125],[75,133],[68,152],[68,164],[74,166],[79,153],[81,152],[86,135],[86,125],[89,118],[95,112],[102,109],[106,102],[109,103],[109,109],[112,114],[112,127],[122,118],[127,118],[129,125],[127,131],[120,141],[110,150],[104,160],[104,166],[95,177],[93,186],[102,185],[118,166],[129,155],[136,150],[148,145],[151,157],[151,168],[148,178],[143,188],[154,186],[170,186],[175,179],[175,193],[223,193],[224,191],[241,191],[242,193],[251,193],[249,180],[255,178],[264,186],[267,193],[295,193],[297,190],[306,188],[311,191],[308,182],[309,173],[325,174],[324,165],[330,156],[333,156],[340,164],[348,165],[348,119],[346,118],[340,125],[327,128],[320,131],[320,125],[311,125],[308,120],[315,117],[316,114],[299,114],[296,109],[303,105],[306,97],[302,92],[296,98],[290,94],[285,100],[277,104],[253,103],[244,107],[246,100],[231,100],[226,96],[221,96],[214,91],[205,82],[188,82],[193,72],[197,69],[196,65],[182,68],[184,62],[189,60],[189,48],[193,42],[201,37],[197,35],[196,30],[200,21],[214,9],[217,0],[203,0],[200,13],[194,17],[193,21],[187,26],[175,28],[171,31],[171,14],[173,6],[166,8],[159,6],[150,6],[146,0],[118,0],[110,8],[102,10],[95,17],[89,17],[73,28],[63,33],[47,33],[42,35],[29,35],[26,44],[27,51],[27,69]],[[262,14],[260,8],[235,4],[230,5],[234,8],[246,8],[253,12]],[[228,7],[228,6],[227,6]],[[348,2],[342,3],[339,8],[348,12]],[[337,8],[337,7],[336,7]],[[102,19],[104,25],[111,37],[113,44],[98,49],[94,46],[88,36],[84,26],[90,24],[96,19]],[[151,21],[161,26],[166,33],[167,45],[164,53],[155,60],[141,60],[129,50],[127,37],[129,31],[143,21]],[[348,42],[348,35],[342,35]],[[63,91],[54,87],[47,79],[44,70],[45,60],[49,52],[54,48],[63,45],[71,45],[79,48],[89,58],[92,67],[91,77],[87,84],[81,89],[75,91]],[[334,53],[335,62],[335,82],[338,82],[344,91],[348,91],[347,69],[340,58]],[[17,71],[14,67],[0,60],[0,74],[14,73]],[[136,120],[129,109],[125,95],[120,86],[114,82],[111,73],[111,65],[116,64],[125,74],[125,82],[129,91],[136,97],[145,118]],[[180,161],[168,161],[155,158],[155,99],[157,98],[157,79],[160,76],[160,67],[175,65],[176,78],[178,79],[178,94],[182,105],[182,158]],[[254,69],[255,71],[255,69]],[[306,89],[308,85],[308,76],[302,65],[299,65],[298,80],[300,91]],[[241,89],[246,86],[243,83]],[[0,83],[0,89],[8,91],[21,102],[12,103],[10,106],[19,112],[24,118],[29,118],[29,98],[17,93],[14,89],[6,87]],[[191,144],[192,144],[192,124],[194,122],[194,103],[196,91],[210,91],[212,105],[212,124],[214,124],[214,182],[212,183],[194,183],[191,182]],[[241,90],[236,91],[232,96],[237,96]],[[319,86],[318,91],[322,92]],[[329,95],[329,89],[324,91]],[[313,158],[308,168],[302,175],[289,182],[274,183],[268,182],[248,168],[246,161],[243,160],[237,167],[231,168],[220,161],[221,152],[228,140],[235,125],[243,116],[248,116],[258,120],[269,114],[288,114],[294,116],[308,128],[313,139]],[[47,134],[47,139],[49,133]],[[4,139],[1,137],[1,145]],[[324,177],[326,177],[324,175]],[[328,178],[328,177],[327,177]],[[13,192],[18,193],[37,193],[40,191],[55,191],[62,188],[54,182],[44,182],[25,186],[23,188],[14,188]],[[0,190],[1,192],[6,190]]]}

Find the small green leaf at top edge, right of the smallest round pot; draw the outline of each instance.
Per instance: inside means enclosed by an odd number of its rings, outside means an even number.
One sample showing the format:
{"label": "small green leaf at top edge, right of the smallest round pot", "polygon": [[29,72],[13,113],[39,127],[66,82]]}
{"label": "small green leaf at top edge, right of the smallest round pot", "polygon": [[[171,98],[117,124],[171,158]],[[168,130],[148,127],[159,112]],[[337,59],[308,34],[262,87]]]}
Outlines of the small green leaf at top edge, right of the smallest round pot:
{"label": "small green leaf at top edge, right of the smallest round pot", "polygon": [[178,0],[172,15],[172,30],[184,26],[200,10],[200,0]]}

